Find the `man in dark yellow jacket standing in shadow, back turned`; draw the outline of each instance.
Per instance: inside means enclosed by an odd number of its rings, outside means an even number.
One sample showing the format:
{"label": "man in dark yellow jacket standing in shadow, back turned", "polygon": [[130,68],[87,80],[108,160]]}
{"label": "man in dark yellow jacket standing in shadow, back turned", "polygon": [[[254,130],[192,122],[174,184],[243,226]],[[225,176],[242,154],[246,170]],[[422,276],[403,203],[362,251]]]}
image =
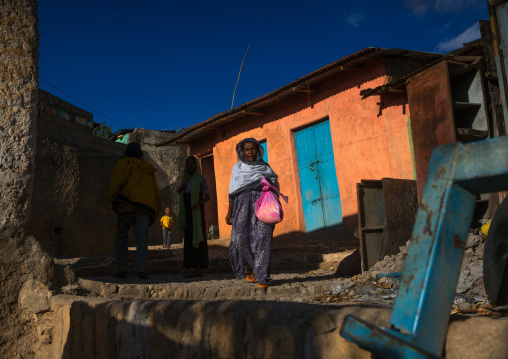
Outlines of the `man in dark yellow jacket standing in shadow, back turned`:
{"label": "man in dark yellow jacket standing in shadow, back turned", "polygon": [[148,254],[148,227],[158,218],[161,195],[155,172],[150,163],[141,159],[143,151],[137,142],[127,145],[125,157],[116,164],[109,183],[109,201],[117,214],[115,241],[117,278],[127,276],[128,232],[136,234],[136,271],[141,279],[148,279],[146,257]]}

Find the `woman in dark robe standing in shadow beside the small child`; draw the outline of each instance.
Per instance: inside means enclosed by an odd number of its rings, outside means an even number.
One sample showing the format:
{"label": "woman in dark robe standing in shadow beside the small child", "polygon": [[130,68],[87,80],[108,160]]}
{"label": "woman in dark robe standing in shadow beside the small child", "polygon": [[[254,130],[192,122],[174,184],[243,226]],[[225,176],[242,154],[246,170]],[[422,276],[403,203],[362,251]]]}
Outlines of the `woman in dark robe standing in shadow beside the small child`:
{"label": "woman in dark robe standing in shadow beside the small child", "polygon": [[185,160],[182,185],[178,188],[180,208],[178,222],[184,233],[183,266],[194,270],[187,278],[202,277],[208,268],[205,213],[203,204],[210,200],[206,178],[201,175],[199,161],[194,156]]}

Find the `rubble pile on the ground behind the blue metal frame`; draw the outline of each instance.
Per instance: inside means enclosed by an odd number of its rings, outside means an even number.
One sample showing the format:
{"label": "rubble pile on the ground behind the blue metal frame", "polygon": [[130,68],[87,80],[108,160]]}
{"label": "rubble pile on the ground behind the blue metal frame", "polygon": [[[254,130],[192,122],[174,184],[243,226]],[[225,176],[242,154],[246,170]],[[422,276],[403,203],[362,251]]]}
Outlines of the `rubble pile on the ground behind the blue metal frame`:
{"label": "rubble pile on the ground behind the blue metal frame", "polygon": [[[324,295],[314,297],[320,303],[374,303],[393,305],[399,289],[400,275],[410,242],[400,247],[396,255],[386,256],[361,275],[339,278]],[[506,308],[492,308],[483,284],[483,250],[485,239],[470,233],[465,245],[453,313],[500,316]],[[503,314],[504,313],[504,314]]]}

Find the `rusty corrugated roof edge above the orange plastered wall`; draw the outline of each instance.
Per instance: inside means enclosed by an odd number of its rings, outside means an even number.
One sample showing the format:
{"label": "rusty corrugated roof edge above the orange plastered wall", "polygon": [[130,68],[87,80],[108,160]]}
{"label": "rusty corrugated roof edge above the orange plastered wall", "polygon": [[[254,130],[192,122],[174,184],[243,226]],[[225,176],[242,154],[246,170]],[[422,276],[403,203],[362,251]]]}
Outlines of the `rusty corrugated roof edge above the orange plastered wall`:
{"label": "rusty corrugated roof edge above the orange plastered wall", "polygon": [[220,112],[203,122],[200,122],[196,125],[193,125],[181,131],[173,138],[161,142],[157,146],[164,146],[169,144],[190,144],[196,139],[204,136],[206,133],[213,131],[213,129],[207,128],[207,126],[211,125],[219,126],[232,122],[240,117],[248,115],[247,113],[248,110],[253,112],[260,111],[261,109],[267,107],[272,103],[275,103],[276,101],[280,102],[290,96],[297,94],[297,92],[295,92],[294,89],[296,89],[298,86],[303,85],[303,88],[307,88],[311,84],[324,81],[328,77],[331,77],[340,71],[348,70],[347,68],[345,68],[345,66],[347,65],[351,66],[353,64],[362,64],[370,59],[381,56],[432,58],[436,56],[441,57],[443,55],[430,52],[412,51],[403,49],[384,49],[379,47],[364,48],[351,55],[343,57],[340,60],[332,62],[331,64],[323,66],[320,69],[313,71],[308,75],[305,75],[285,86],[278,88],[277,90],[267,93],[266,95],[246,102],[231,110]]}

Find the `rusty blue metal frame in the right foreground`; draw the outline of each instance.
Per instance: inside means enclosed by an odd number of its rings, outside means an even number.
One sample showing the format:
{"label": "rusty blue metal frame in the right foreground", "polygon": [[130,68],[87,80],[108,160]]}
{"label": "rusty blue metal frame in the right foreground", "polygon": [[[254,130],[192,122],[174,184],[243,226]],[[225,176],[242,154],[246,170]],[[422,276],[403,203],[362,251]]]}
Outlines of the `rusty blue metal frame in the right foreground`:
{"label": "rusty blue metal frame in the right foreground", "polygon": [[341,334],[381,358],[440,356],[477,196],[506,189],[508,136],[437,147],[416,215],[391,328],[373,330],[348,316]]}

